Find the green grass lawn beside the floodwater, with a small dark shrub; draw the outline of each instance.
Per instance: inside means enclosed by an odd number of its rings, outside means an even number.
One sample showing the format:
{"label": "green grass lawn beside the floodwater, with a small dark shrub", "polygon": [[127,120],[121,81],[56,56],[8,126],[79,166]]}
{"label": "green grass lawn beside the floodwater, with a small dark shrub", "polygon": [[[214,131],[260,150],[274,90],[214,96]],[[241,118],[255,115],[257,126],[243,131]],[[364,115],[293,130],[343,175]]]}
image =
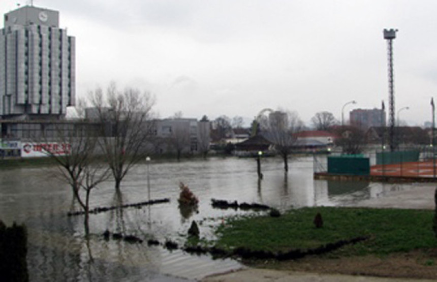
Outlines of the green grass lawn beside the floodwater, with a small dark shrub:
{"label": "green grass lawn beside the floodwater, with a small dark shrub", "polygon": [[[314,217],[320,212],[323,228]],[[216,230],[216,246],[285,252],[316,248],[360,236],[369,239],[342,247],[347,255],[385,255],[437,246],[431,210],[316,207],[290,210],[280,217],[231,218]]]}

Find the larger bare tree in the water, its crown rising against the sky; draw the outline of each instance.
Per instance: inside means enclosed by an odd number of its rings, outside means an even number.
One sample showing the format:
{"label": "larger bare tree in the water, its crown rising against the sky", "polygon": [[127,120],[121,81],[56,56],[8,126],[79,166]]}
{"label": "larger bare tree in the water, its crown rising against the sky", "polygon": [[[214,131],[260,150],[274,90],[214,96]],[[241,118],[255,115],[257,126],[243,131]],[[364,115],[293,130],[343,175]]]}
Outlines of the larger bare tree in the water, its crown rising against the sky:
{"label": "larger bare tree in the water, its crown rising against the sky", "polygon": [[117,89],[111,83],[103,97],[103,90],[89,94],[102,124],[99,145],[115,180],[115,189],[129,170],[148,153],[146,141],[152,136],[152,107],[154,99],[148,92],[136,88]]}

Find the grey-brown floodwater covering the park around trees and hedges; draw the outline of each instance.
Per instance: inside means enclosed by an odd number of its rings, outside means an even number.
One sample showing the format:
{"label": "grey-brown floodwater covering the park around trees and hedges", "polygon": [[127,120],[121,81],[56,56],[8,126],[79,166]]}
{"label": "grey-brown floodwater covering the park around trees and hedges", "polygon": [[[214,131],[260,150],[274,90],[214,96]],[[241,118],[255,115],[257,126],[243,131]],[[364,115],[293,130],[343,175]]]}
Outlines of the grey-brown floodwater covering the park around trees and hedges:
{"label": "grey-brown floodwater covering the park around trees and hedges", "polygon": [[[124,208],[90,215],[90,237],[85,239],[83,216],[68,217],[78,210],[66,183],[54,177],[55,167],[0,171],[0,220],[7,225],[24,223],[28,230],[27,267],[31,281],[185,281],[243,267],[231,259],[213,260],[148,246],[104,240],[105,230],[154,238],[180,246],[195,220],[201,237],[213,238],[214,226],[224,218],[251,211],[221,210],[211,199],[261,203],[281,211],[303,206],[348,206],[390,191],[412,189],[408,184],[313,180],[313,158],[297,158],[284,173],[280,159],[261,162],[263,180],[257,177],[254,159],[208,160],[140,164],[122,182],[121,195],[114,183],[105,182],[91,193],[91,208],[132,204],[170,198],[170,203]],[[148,173],[147,173],[148,171]],[[179,182],[199,198],[199,212],[178,207]]]}

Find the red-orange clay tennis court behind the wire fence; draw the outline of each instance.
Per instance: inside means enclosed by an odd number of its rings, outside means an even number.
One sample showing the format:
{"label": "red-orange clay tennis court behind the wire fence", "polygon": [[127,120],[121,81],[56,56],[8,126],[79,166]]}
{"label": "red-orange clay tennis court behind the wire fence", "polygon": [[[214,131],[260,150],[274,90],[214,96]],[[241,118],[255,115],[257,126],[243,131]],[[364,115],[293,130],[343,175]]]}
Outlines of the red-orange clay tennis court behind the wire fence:
{"label": "red-orange clay tennis court behind the wire fence", "polygon": [[370,175],[433,177],[435,161],[405,162],[391,165],[375,165],[370,167]]}

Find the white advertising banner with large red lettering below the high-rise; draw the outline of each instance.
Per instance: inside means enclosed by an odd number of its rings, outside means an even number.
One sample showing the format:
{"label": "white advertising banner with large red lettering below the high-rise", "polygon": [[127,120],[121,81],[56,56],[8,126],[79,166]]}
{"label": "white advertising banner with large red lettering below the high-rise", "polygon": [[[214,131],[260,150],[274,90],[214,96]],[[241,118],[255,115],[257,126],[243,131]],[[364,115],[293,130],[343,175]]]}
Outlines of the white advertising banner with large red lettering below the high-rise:
{"label": "white advertising banner with large red lettering below the high-rise", "polygon": [[35,156],[66,155],[70,153],[71,145],[68,143],[22,143],[21,156],[24,158]]}

